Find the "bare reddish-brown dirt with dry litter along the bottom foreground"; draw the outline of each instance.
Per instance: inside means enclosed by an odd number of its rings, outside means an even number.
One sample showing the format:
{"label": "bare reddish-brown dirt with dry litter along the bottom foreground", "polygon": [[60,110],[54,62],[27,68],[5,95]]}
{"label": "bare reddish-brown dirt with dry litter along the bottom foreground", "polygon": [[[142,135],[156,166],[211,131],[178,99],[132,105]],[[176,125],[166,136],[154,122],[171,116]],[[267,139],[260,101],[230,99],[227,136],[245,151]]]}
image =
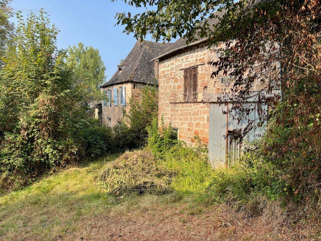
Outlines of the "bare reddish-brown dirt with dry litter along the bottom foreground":
{"label": "bare reddish-brown dirt with dry litter along the bottom foreground", "polygon": [[[68,233],[56,240],[218,240],[272,241],[292,240],[286,228],[271,230],[262,217],[229,220],[230,213],[210,211],[186,214],[181,210],[153,210],[143,214],[100,217],[82,220],[82,230]],[[274,226],[275,227],[275,226]]]}

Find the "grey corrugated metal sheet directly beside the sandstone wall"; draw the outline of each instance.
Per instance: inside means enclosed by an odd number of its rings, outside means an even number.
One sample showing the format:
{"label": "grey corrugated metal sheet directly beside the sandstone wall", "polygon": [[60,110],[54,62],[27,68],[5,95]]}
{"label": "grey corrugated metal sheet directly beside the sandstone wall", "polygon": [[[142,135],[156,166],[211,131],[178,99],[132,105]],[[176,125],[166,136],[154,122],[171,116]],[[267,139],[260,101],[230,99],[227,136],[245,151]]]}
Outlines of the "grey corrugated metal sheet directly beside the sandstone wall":
{"label": "grey corrugated metal sheet directly beside the sandstone wall", "polygon": [[210,105],[208,153],[213,167],[225,164],[226,115],[223,115],[223,109],[226,110],[226,106]]}

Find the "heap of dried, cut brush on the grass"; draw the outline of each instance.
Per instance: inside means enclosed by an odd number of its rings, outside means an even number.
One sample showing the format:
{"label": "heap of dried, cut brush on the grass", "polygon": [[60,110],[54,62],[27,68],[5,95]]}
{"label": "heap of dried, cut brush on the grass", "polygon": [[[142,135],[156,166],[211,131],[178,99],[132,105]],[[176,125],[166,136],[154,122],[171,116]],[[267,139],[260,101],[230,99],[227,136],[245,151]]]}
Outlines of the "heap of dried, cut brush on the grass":
{"label": "heap of dried, cut brush on the grass", "polygon": [[125,152],[107,164],[97,177],[100,187],[114,195],[130,192],[169,192],[171,173],[161,165],[157,156],[148,149]]}

